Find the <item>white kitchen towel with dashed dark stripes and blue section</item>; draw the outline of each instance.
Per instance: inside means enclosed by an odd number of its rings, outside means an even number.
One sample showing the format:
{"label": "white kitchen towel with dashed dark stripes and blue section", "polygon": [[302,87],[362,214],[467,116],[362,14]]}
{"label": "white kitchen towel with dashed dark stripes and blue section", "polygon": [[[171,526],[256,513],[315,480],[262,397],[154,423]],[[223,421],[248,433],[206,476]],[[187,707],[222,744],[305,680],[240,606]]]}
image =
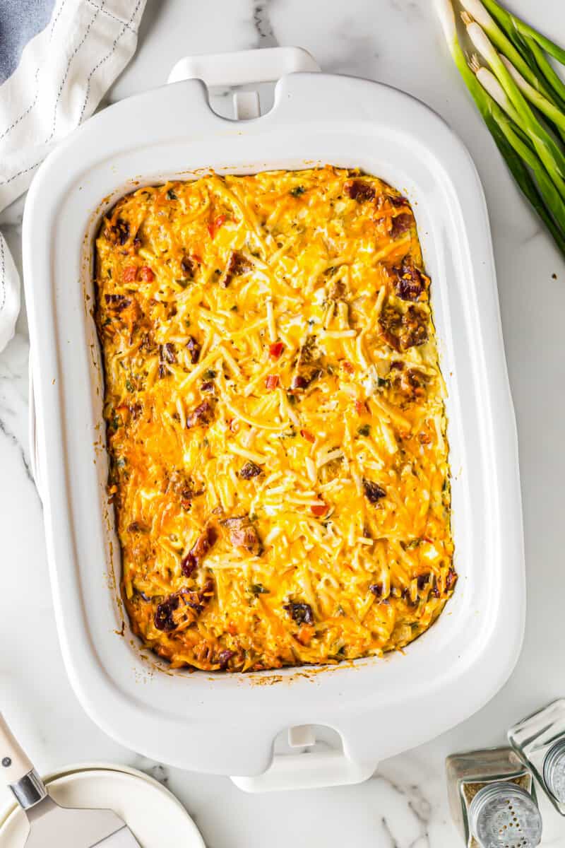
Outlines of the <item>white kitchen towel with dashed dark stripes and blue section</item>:
{"label": "white kitchen towel with dashed dark stripes and blue section", "polygon": [[[136,50],[146,0],[0,0],[0,211],[92,114]],[[19,276],[0,233],[0,350]]]}

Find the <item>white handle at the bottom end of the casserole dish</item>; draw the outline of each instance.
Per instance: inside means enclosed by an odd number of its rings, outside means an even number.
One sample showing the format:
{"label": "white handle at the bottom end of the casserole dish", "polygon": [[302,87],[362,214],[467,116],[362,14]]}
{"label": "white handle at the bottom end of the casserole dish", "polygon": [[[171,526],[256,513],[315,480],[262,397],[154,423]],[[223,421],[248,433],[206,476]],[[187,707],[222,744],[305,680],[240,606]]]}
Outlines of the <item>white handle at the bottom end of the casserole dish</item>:
{"label": "white handle at the bottom end of the casserole dish", "polygon": [[344,750],[313,750],[302,754],[275,754],[263,774],[231,779],[244,792],[321,789],[361,784],[374,774],[378,765],[378,762],[352,760]]}

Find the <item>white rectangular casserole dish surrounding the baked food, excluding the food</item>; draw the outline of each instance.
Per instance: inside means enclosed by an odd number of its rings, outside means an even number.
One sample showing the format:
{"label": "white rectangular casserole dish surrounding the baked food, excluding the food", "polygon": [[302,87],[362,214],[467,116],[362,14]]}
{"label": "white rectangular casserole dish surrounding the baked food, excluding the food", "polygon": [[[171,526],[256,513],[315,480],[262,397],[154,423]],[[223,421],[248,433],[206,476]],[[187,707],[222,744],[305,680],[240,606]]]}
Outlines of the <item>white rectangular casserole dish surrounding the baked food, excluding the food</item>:
{"label": "white rectangular casserole dish surrounding the baked food, excluding the food", "polygon": [[[196,72],[212,68],[213,82],[229,84],[297,67],[315,64],[278,49],[203,59]],[[244,107],[252,114],[252,96]],[[448,390],[457,590],[405,656],[322,671],[169,672],[128,622],[120,634],[92,239],[102,212],[141,184],[208,167],[325,163],[359,166],[413,202]],[[485,198],[468,152],[436,114],[388,86],[312,72],[282,76],[274,108],[254,120],[214,114],[195,79],[130,98],[88,120],[42,165],[25,207],[24,270],[58,633],[75,692],[108,734],[161,762],[246,776],[237,780],[245,789],[346,783],[496,693],[523,637],[517,438]],[[307,724],[334,728],[343,750],[278,757],[263,774],[275,736]],[[300,735],[295,728],[296,745],[311,742]]]}

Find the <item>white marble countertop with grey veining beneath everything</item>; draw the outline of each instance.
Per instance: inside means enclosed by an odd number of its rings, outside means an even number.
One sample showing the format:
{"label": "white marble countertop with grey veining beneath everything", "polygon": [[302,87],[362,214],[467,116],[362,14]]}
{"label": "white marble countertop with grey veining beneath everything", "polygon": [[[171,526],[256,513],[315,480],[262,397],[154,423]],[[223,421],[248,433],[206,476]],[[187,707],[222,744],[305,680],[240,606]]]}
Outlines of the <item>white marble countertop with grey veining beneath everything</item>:
{"label": "white marble countertop with grey veining beneath everything", "polygon": [[[229,778],[184,773],[114,744],[82,711],[67,680],[53,616],[42,505],[29,466],[25,310],[0,354],[0,704],[44,772],[70,762],[140,767],[167,783],[209,848],[344,844],[455,848],[444,760],[504,742],[512,723],[565,695],[562,449],[565,265],[523,199],[446,55],[431,0],[148,0],[135,59],[108,93],[113,102],[164,81],[187,53],[297,44],[323,70],[405,89],[439,112],[468,145],[485,186],[501,314],[518,419],[528,617],[518,666],[474,717],[439,739],[381,763],[367,783],[285,795],[246,795]],[[565,35],[565,5],[508,0],[549,34]],[[563,40],[563,38],[562,38]],[[0,215],[19,261],[23,202]],[[488,588],[485,587],[488,590]],[[418,721],[418,715],[414,716]],[[8,795],[0,793],[0,802]],[[565,820],[542,799],[543,845],[565,845]]]}

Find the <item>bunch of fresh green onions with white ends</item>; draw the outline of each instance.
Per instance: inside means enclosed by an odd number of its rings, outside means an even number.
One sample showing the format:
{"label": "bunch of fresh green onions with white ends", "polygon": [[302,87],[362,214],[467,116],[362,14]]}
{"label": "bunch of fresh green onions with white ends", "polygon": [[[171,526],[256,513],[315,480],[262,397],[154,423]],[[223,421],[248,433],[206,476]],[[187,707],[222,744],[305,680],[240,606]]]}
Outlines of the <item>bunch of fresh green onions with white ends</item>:
{"label": "bunch of fresh green onions with white ends", "polygon": [[[463,50],[456,8],[470,43]],[[435,0],[446,42],[496,146],[557,248],[565,256],[565,85],[549,54],[565,51],[496,0]]]}

